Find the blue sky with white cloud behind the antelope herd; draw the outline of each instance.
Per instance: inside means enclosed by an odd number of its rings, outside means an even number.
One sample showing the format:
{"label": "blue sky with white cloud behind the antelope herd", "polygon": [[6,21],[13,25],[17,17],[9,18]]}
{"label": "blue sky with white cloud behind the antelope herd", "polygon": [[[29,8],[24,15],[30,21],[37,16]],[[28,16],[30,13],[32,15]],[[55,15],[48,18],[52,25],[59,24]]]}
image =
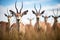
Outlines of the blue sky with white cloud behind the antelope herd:
{"label": "blue sky with white cloud behind the antelope herd", "polygon": [[[0,0],[0,21],[7,21],[7,18],[4,16],[4,13],[7,14],[7,9],[8,10],[15,10],[15,2],[16,0]],[[22,17],[22,22],[24,24],[29,24],[29,20],[27,18],[34,18],[32,20],[32,24],[36,22],[36,16],[32,14],[32,10],[34,10],[34,4],[36,5],[37,10],[39,10],[40,4],[41,4],[41,11],[45,10],[45,13],[43,15],[53,15],[53,12],[51,11],[52,9],[58,8],[58,15],[60,15],[60,0],[17,0],[17,8],[18,10],[21,8],[21,2],[23,2],[23,9],[24,10],[29,10],[27,15],[24,15]],[[54,11],[57,13],[57,11]],[[10,12],[8,11],[10,14]],[[44,18],[40,16],[40,21],[44,21]],[[48,22],[53,23],[53,18],[49,18]],[[11,18],[11,24],[15,22],[15,17]],[[60,22],[60,18],[58,18],[58,22]]]}

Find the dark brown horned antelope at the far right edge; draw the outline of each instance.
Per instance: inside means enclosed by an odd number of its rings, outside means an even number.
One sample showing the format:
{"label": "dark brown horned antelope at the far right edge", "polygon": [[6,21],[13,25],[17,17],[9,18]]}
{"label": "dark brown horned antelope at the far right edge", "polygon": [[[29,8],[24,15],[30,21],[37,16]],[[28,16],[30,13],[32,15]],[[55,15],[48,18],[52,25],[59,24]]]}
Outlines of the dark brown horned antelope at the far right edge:
{"label": "dark brown horned antelope at the far right edge", "polygon": [[57,9],[56,14],[53,9],[53,14],[54,14],[54,16],[52,15],[52,17],[54,18],[54,23],[52,26],[52,31],[54,32],[55,39],[60,40],[60,28],[59,28],[60,26],[58,26],[58,20],[57,20],[60,17],[60,16],[58,16],[58,9]]}

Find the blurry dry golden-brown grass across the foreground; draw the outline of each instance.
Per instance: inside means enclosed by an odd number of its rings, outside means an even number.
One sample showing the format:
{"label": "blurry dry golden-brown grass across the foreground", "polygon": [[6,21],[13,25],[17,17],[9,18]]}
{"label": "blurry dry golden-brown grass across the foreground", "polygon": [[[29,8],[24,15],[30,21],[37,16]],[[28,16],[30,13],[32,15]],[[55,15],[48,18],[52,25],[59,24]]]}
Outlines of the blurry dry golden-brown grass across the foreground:
{"label": "blurry dry golden-brown grass across the foreground", "polygon": [[2,32],[0,29],[0,40],[60,40],[60,29],[56,28],[55,30],[51,29],[50,32],[35,31],[32,26],[27,26],[25,28],[26,32],[23,35],[18,33],[16,29],[11,30],[11,32]]}

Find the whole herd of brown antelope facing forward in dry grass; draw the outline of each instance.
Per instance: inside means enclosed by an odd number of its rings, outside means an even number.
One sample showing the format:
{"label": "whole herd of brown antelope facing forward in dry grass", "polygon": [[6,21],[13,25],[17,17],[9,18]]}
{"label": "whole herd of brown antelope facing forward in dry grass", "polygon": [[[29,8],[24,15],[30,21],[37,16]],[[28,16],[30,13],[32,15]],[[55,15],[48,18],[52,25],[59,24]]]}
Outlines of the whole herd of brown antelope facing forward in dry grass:
{"label": "whole herd of brown antelope facing forward in dry grass", "polygon": [[[14,12],[14,11],[12,11],[12,10],[9,10],[9,12],[12,14],[12,15],[7,15],[7,14],[4,14],[6,17],[7,17],[7,19],[8,19],[8,29],[9,29],[9,31],[10,30],[12,30],[12,29],[14,29],[14,28],[17,28],[17,30],[18,30],[18,32],[23,32],[23,33],[25,33],[25,28],[26,28],[26,26],[29,26],[28,28],[30,28],[32,25],[31,25],[31,21],[34,19],[29,19],[28,18],[28,20],[30,21],[30,25],[24,25],[21,21],[20,21],[20,19],[22,18],[22,16],[24,16],[24,15],[26,15],[27,13],[28,13],[28,10],[25,10],[24,12],[22,12],[22,8],[23,8],[23,3],[22,3],[22,6],[21,6],[21,9],[18,11],[18,9],[17,9],[17,7],[16,7],[16,3],[17,2],[15,2],[15,9],[16,9],[16,13]],[[40,9],[39,9],[39,11],[37,11],[37,9],[36,9],[36,5],[34,5],[34,8],[35,8],[35,10],[36,11],[34,11],[34,10],[32,10],[32,13],[33,14],[35,14],[35,16],[36,16],[36,23],[35,23],[35,26],[34,26],[34,30],[35,31],[40,31],[41,29],[43,29],[44,31],[47,31],[47,30],[49,30],[49,28],[51,28],[51,29],[56,29],[57,27],[58,27],[58,23],[57,23],[57,19],[60,17],[60,16],[58,16],[58,9],[57,9],[57,14],[55,14],[54,13],[54,10],[52,11],[53,12],[53,14],[54,14],[54,16],[53,15],[51,15],[51,16],[44,16],[44,15],[42,15],[42,14],[44,14],[44,12],[45,12],[45,10],[43,10],[43,11],[41,11],[41,5],[40,5]],[[13,16],[15,16],[15,18],[16,18],[16,23],[15,24],[12,24],[12,26],[10,26],[10,19],[13,17]],[[43,24],[42,24],[42,26],[40,25],[40,22],[39,22],[39,18],[40,18],[40,16],[42,16],[43,18],[44,18],[44,23],[45,23],[45,25],[46,26],[44,26],[43,27]],[[54,23],[53,23],[53,26],[52,27],[50,27],[49,26],[49,23],[47,22],[47,19],[48,18],[50,18],[50,17],[53,17],[54,18]],[[0,26],[1,26],[1,23],[0,23]],[[60,26],[58,27],[58,28],[60,28]]]}

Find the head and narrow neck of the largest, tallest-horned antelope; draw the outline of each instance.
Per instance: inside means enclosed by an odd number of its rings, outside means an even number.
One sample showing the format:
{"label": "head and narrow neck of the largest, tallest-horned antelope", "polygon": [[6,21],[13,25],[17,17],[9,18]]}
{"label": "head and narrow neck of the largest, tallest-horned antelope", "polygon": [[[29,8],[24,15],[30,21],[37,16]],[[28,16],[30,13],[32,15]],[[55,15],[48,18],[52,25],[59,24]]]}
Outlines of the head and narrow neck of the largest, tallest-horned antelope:
{"label": "head and narrow neck of the largest, tallest-horned antelope", "polygon": [[16,17],[16,22],[17,22],[18,32],[19,32],[19,28],[20,28],[20,25],[19,25],[20,23],[19,23],[19,21],[20,21],[20,19],[22,18],[23,15],[26,15],[26,14],[27,14],[28,10],[26,10],[26,11],[24,11],[24,12],[21,12],[21,11],[22,11],[22,8],[23,8],[23,2],[22,2],[21,9],[20,9],[20,11],[18,12],[18,9],[17,9],[17,7],[16,7],[16,3],[17,3],[17,1],[15,2],[16,13],[15,13],[14,11],[12,11],[12,10],[9,10],[9,11],[11,12],[11,14],[13,14],[13,15]]}

